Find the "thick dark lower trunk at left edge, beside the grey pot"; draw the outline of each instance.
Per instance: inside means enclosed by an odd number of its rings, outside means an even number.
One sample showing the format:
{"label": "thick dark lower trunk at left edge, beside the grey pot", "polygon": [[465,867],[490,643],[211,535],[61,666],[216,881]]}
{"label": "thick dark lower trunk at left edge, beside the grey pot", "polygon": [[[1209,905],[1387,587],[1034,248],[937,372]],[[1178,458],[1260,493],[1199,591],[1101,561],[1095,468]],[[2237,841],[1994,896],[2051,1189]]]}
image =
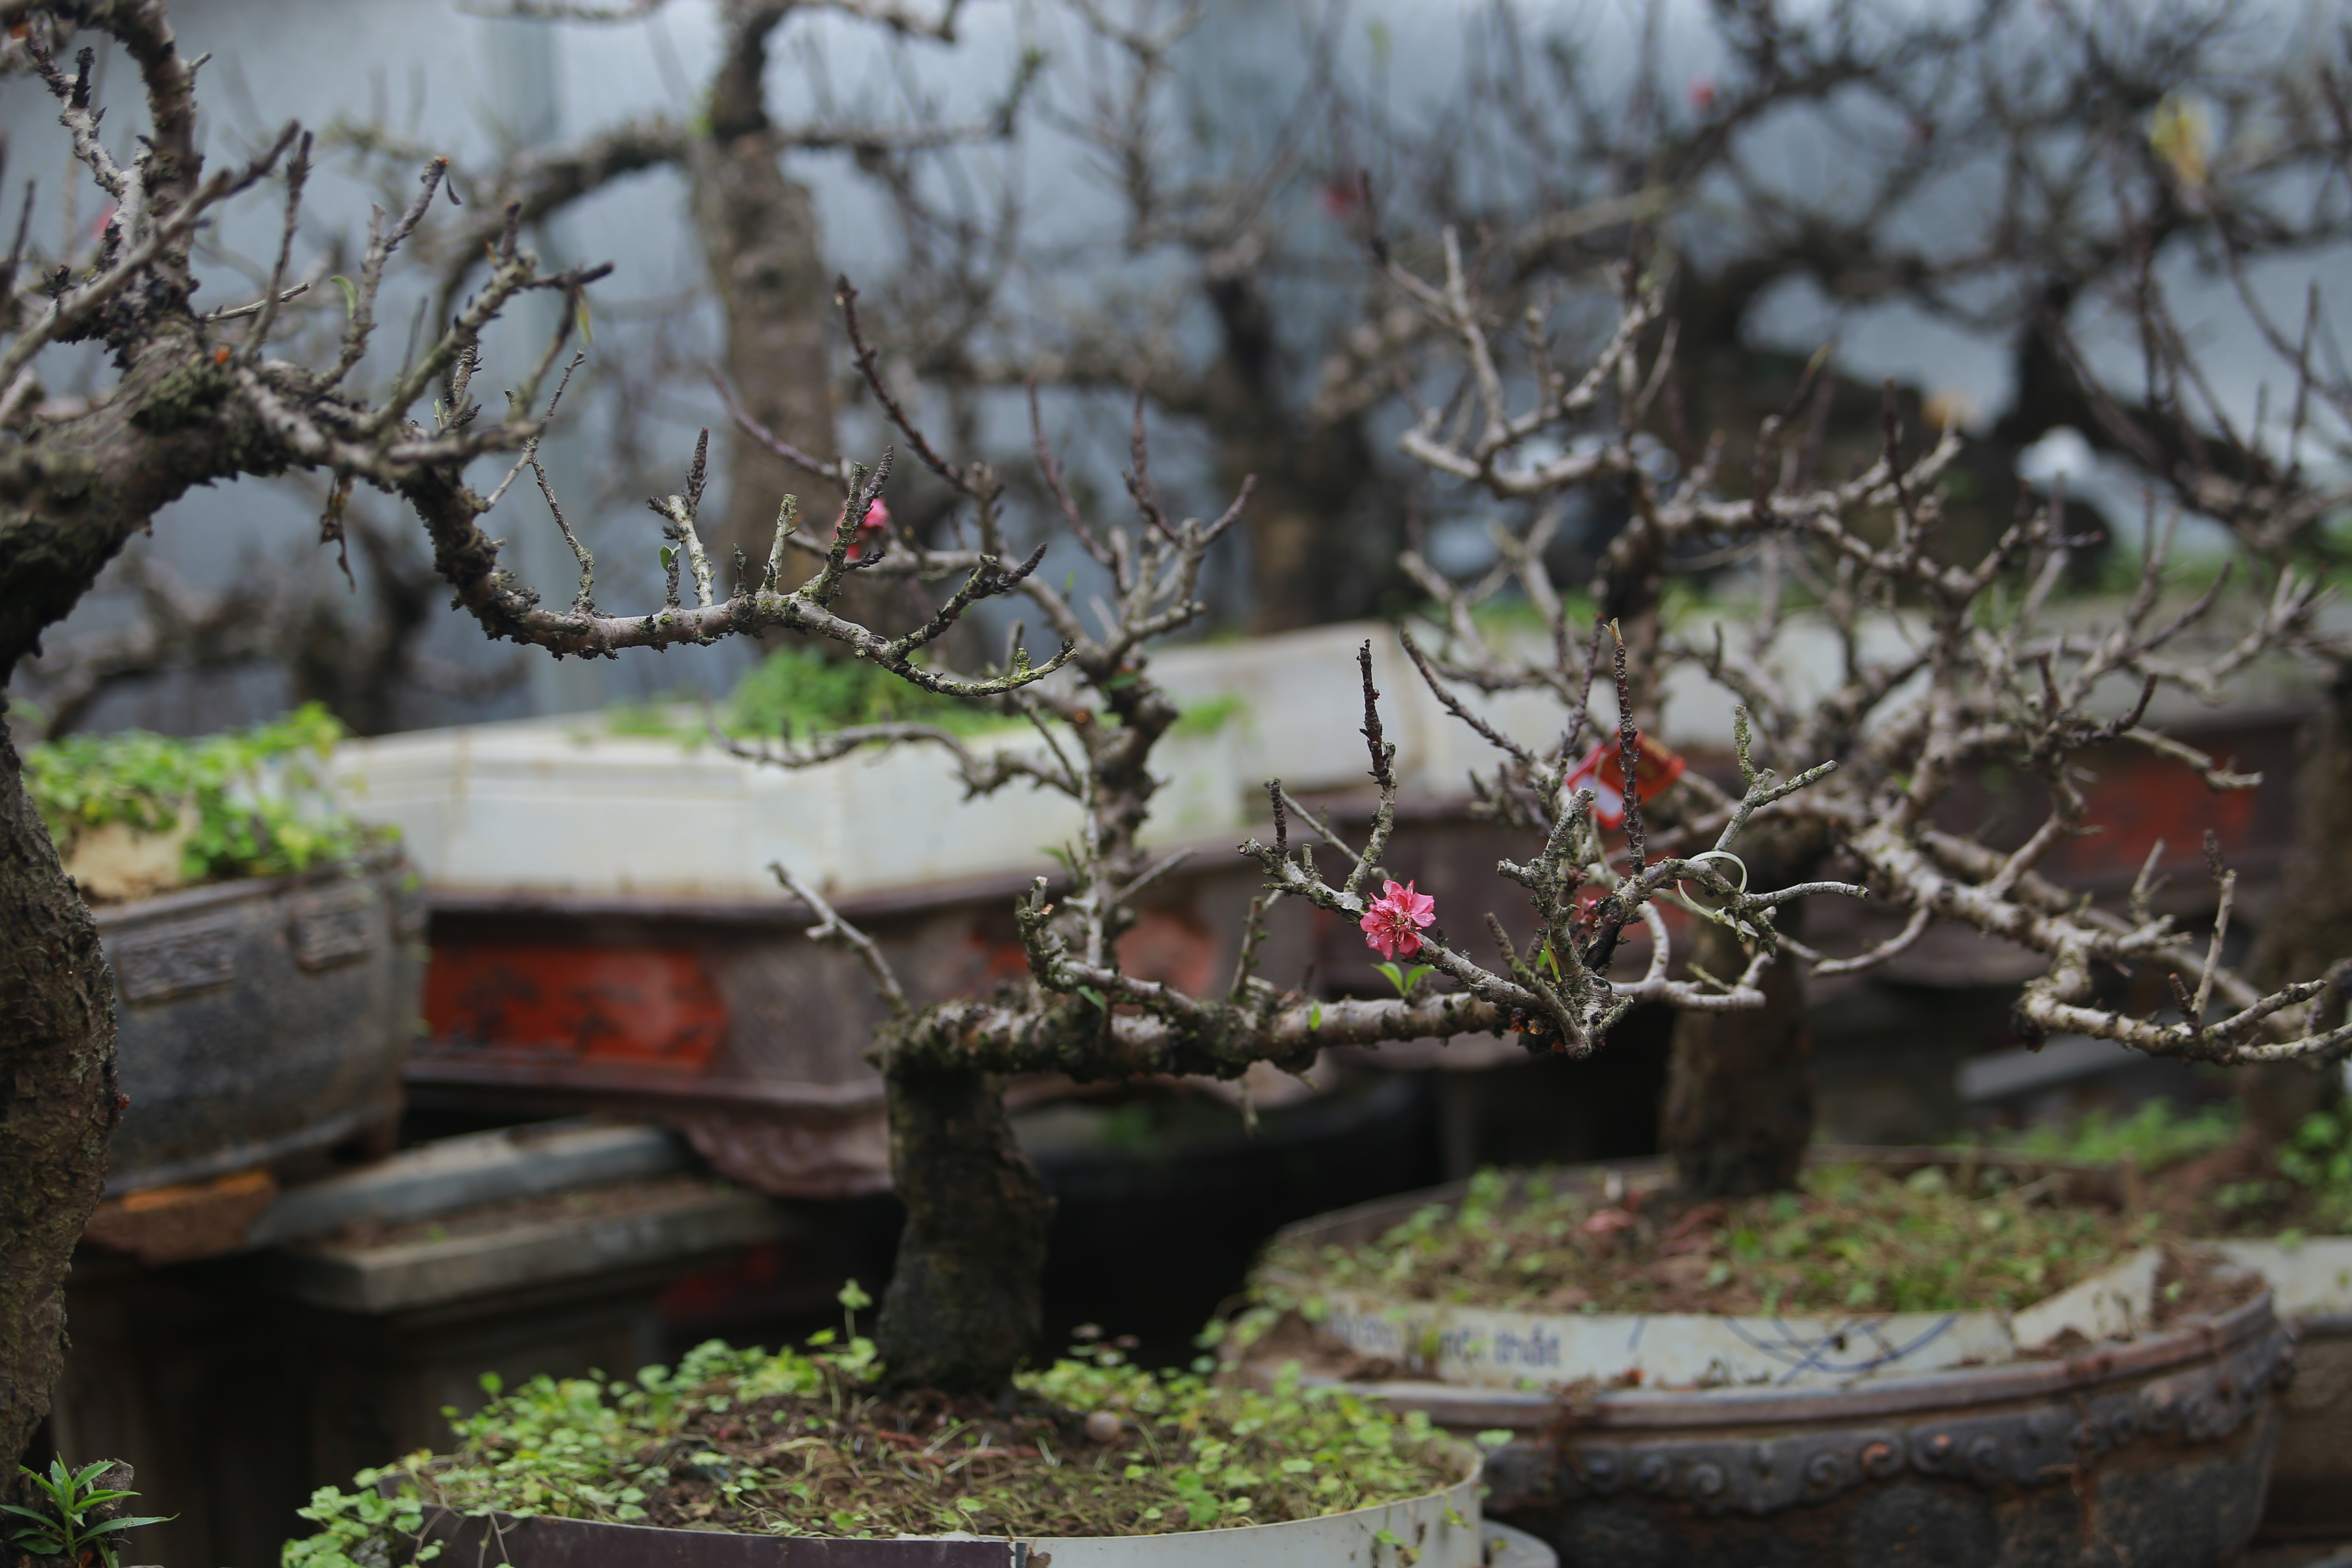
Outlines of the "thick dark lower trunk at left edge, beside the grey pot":
{"label": "thick dark lower trunk at left edge, beside the grey pot", "polygon": [[115,983],[0,724],[0,1495],[66,1356],[66,1262],[106,1187]]}

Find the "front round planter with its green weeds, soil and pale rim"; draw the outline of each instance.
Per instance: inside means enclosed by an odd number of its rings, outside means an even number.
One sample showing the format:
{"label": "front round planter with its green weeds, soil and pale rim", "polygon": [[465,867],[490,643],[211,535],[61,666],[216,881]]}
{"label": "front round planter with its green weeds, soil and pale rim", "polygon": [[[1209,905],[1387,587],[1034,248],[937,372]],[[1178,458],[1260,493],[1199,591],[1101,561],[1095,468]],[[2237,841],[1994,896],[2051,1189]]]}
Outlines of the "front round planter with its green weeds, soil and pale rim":
{"label": "front round planter with its green weeds, soil and pale rim", "polygon": [[894,1392],[868,1340],[818,1335],[809,1354],[706,1345],[637,1380],[534,1380],[461,1420],[452,1453],[320,1493],[320,1533],[285,1561],[442,1542],[513,1568],[1475,1568],[1479,1469],[1418,1415],[1289,1380],[1216,1387],[1094,1345],[950,1399]]}

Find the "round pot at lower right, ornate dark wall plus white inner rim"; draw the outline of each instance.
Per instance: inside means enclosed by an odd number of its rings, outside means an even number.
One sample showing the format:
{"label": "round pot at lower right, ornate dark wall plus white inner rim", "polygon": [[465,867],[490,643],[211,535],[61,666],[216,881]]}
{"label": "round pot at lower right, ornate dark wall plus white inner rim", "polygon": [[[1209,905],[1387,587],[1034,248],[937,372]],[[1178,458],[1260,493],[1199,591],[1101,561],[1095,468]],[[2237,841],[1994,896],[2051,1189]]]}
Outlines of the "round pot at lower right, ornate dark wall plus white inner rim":
{"label": "round pot at lower right, ornate dark wall plus white inner rim", "polygon": [[[1955,1157],[1907,1152],[1893,1164],[1933,1159]],[[2011,1164],[2082,1201],[2122,1197],[2114,1171]],[[1665,1173],[1621,1166],[1564,1180],[1625,1194],[1663,1185]],[[1449,1199],[1461,1187],[1327,1215],[1287,1241],[1294,1251],[1364,1241]],[[1378,1328],[1364,1324],[1364,1302],[1345,1302],[1355,1307],[1345,1319],[1327,1319],[1308,1342],[1294,1326],[1294,1338],[1256,1347],[1244,1371],[1268,1378],[1284,1356],[1303,1356],[1310,1378],[1484,1434],[1489,1512],[1573,1563],[1863,1566],[1900,1561],[1929,1540],[1938,1561],[1999,1568],[2077,1561],[2091,1547],[2131,1563],[2223,1561],[2263,1512],[2293,1338],[2270,1293],[2246,1300],[2249,1286],[2234,1302],[2216,1293],[2206,1309],[2187,1298],[2150,1328],[2145,1295],[2122,1309],[2138,1295],[2136,1265],[2126,1258],[2079,1281],[2070,1314],[2044,1302],[1919,1321],[1715,1316],[1696,1319],[1700,1333],[1677,1314],[1571,1312],[1545,1328],[1541,1314],[1505,1324],[1463,1307],[1442,1321],[1428,1302],[1399,1298],[1369,1314],[1395,1333],[1388,1356],[1367,1354],[1383,1347]],[[2103,1291],[2105,1305],[2084,1300]],[[2070,1316],[2072,1333],[2032,1324],[2037,1312]],[[1571,1328],[1590,1335],[1583,1366],[1566,1366]],[[1971,1331],[1985,1342],[1950,1345]],[[1510,1366],[1498,1366],[1503,1333],[1515,1335]],[[1616,1375],[1602,1371],[1611,1354]],[[1531,1366],[1538,1359],[1552,1366]]]}

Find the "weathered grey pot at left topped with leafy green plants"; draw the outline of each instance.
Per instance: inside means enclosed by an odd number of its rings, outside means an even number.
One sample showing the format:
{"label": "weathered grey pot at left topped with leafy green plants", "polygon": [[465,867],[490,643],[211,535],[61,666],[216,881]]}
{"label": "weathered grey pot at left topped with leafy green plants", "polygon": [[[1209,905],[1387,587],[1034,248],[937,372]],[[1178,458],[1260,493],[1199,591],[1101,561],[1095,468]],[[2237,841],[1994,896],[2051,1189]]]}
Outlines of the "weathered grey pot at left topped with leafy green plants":
{"label": "weathered grey pot at left topped with leafy green plants", "polygon": [[115,980],[125,1098],[94,1241],[151,1262],[228,1251],[275,1166],[367,1131],[390,1150],[423,884],[327,785],[341,738],[306,705],[188,741],[26,748]]}

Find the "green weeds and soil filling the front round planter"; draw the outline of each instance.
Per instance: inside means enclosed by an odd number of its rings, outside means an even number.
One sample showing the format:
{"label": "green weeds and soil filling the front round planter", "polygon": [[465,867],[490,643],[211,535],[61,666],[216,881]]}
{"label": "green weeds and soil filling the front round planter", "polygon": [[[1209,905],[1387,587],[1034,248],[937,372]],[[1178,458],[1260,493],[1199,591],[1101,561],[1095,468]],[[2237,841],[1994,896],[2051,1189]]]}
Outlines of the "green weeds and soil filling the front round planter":
{"label": "green weeds and soil filling the front round planter", "polygon": [[[863,1302],[863,1293],[858,1293]],[[1338,1389],[1221,1387],[1096,1345],[1014,1399],[882,1394],[870,1340],[689,1352],[635,1380],[534,1378],[445,1455],[322,1488],[282,1568],[381,1568],[426,1509],[764,1535],[1150,1535],[1315,1519],[1461,1481],[1421,1413]]]}

